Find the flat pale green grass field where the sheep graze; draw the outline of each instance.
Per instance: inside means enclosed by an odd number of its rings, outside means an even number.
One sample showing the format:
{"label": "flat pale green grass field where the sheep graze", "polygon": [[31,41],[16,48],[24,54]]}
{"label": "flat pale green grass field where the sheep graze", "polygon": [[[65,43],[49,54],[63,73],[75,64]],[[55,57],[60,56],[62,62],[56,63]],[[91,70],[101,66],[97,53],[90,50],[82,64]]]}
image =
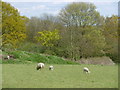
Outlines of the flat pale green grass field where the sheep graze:
{"label": "flat pale green grass field where the sheep graze", "polygon": [[[87,66],[91,73],[83,73]],[[47,64],[37,71],[36,64],[3,64],[3,88],[117,88],[118,66]]]}

